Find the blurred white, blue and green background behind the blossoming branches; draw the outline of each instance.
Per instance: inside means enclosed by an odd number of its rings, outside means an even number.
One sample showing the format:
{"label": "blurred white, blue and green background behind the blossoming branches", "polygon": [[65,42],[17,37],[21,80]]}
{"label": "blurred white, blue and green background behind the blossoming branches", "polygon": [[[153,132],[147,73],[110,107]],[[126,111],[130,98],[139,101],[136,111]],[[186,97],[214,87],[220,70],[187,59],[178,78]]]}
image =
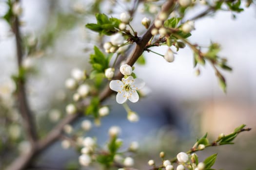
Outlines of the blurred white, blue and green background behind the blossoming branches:
{"label": "blurred white, blue and green background behind the blossoming branches", "polygon": [[[5,2],[0,0],[0,16],[6,13]],[[101,4],[95,5],[98,2]],[[146,9],[143,4],[138,6],[131,25],[139,35],[145,31],[140,25],[141,19],[145,16],[153,19],[159,10],[158,4],[162,2],[146,3],[150,13],[143,10]],[[185,20],[205,9],[201,3],[195,3]],[[72,94],[64,85],[71,69],[90,70],[88,61],[93,46],[108,40],[108,37],[100,37],[85,29],[84,25],[96,22],[94,14],[99,11],[119,17],[121,12],[132,8],[132,2],[21,0],[21,7],[21,32],[31,46],[26,53],[29,56],[27,66],[33,68],[27,75],[27,93],[40,136],[44,136],[59,121],[51,116],[53,112],[58,112],[63,118],[66,104],[72,101]],[[103,145],[108,138],[108,128],[120,126],[120,138],[125,146],[135,140],[141,145],[135,160],[138,169],[145,170],[149,168],[149,159],[160,163],[158,153],[161,151],[174,157],[178,152],[189,150],[196,138],[206,132],[214,140],[220,133],[228,134],[240,124],[247,124],[253,130],[239,135],[235,145],[207,148],[198,155],[203,161],[205,157],[218,153],[216,169],[255,170],[256,6],[252,4],[240,14],[217,12],[198,19],[195,27],[189,40],[200,46],[208,46],[211,41],[220,43],[220,55],[226,57],[233,68],[232,72],[222,71],[228,85],[227,94],[219,88],[210,65],[201,67],[200,75],[195,76],[193,53],[188,47],[177,52],[173,63],[144,52],[146,64],[136,65],[134,72],[146,82],[143,90],[147,97],[135,104],[128,103],[138,112],[140,121],[129,122],[125,110],[113,96],[104,102],[113,105],[110,115],[88,135],[96,136]],[[153,48],[162,54],[166,50],[166,47]],[[8,23],[0,19],[0,169],[25,152],[28,145],[19,126],[21,119],[12,96],[15,89],[11,79],[13,74],[17,74],[15,37]],[[74,128],[79,129],[82,119],[73,124]],[[47,165],[61,170],[78,164],[78,156],[74,149],[63,150],[60,142],[56,142],[39,156],[35,167]]]}

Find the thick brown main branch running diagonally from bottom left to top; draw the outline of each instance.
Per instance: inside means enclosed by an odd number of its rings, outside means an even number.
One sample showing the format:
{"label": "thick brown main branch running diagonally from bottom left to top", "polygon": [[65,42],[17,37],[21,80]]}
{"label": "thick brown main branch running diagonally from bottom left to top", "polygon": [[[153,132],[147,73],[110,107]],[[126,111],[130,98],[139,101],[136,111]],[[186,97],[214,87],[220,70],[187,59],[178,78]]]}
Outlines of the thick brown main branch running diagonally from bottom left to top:
{"label": "thick brown main branch running diagonally from bottom left to top", "polygon": [[[164,12],[166,14],[170,14],[172,11],[172,7],[175,4],[176,0],[167,0],[161,9],[161,12]],[[134,63],[137,61],[138,57],[143,53],[148,41],[152,37],[151,30],[154,28],[154,22],[150,26],[150,28],[146,31],[146,33],[140,38],[140,40],[137,42],[135,49],[131,52],[129,55],[126,63],[130,66],[133,66]],[[115,76],[115,79],[121,79],[122,74],[118,72],[118,74]],[[102,92],[99,94],[100,102],[104,101],[106,98],[108,98],[113,91],[109,88],[109,84],[106,85],[106,87],[102,90]],[[28,155],[21,155],[19,158],[17,158],[13,164],[11,164],[7,170],[22,170],[26,168],[29,163],[32,161],[32,158],[34,158],[36,155],[38,155],[41,151],[49,147],[53,142],[55,142],[59,136],[61,135],[61,131],[63,129],[63,126],[65,124],[71,123],[75,121],[77,118],[79,118],[81,114],[74,114],[67,116],[66,118],[62,119],[62,121],[42,140],[37,142],[37,147]]]}

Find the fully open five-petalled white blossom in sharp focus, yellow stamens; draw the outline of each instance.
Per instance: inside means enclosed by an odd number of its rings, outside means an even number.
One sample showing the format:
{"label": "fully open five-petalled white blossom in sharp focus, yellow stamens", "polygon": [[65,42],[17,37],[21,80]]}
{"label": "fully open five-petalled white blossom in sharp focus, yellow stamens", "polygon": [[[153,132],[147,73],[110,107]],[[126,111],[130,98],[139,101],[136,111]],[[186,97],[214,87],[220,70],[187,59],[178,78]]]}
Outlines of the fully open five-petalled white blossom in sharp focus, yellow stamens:
{"label": "fully open five-petalled white blossom in sharp focus, yellow stamens", "polygon": [[120,80],[112,80],[109,84],[110,88],[114,91],[117,91],[116,100],[119,104],[126,102],[127,99],[131,102],[138,102],[138,93],[136,90],[139,90],[145,85],[145,82],[141,79],[134,79],[132,76],[122,78]]}

